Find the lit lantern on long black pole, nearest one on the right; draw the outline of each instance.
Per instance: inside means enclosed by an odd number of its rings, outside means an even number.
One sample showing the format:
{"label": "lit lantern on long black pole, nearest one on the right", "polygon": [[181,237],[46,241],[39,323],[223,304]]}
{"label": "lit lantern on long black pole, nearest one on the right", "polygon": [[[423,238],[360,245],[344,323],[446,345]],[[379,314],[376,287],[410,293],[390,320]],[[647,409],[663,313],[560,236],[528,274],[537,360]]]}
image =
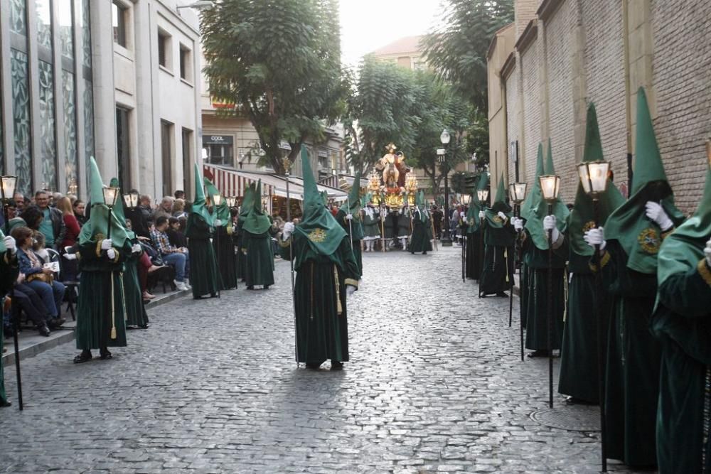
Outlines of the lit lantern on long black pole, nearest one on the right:
{"label": "lit lantern on long black pole, nearest one on the right", "polygon": [[[600,220],[599,200],[600,195],[607,189],[607,173],[610,169],[609,161],[585,161],[578,165],[578,175],[580,184],[587,195],[592,199],[594,228],[597,229]],[[602,325],[602,303],[604,295],[602,293],[602,264],[600,259],[600,246],[595,245],[593,254],[595,272],[595,302],[594,308],[597,313],[597,389],[600,399],[600,448],[602,455],[602,472],[607,472],[607,438],[605,420],[605,389],[604,389],[604,361],[602,358],[604,348]]]}

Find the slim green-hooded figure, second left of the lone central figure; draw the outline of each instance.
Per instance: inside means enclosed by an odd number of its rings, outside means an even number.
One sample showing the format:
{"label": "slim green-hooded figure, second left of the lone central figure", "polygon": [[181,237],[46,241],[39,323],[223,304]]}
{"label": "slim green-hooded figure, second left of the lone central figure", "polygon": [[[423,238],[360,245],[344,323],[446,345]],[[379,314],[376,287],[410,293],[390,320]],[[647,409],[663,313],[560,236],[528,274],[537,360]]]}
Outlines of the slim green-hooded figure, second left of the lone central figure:
{"label": "slim green-hooded figure, second left of the lone central figure", "polygon": [[[220,195],[220,190],[208,178],[204,178],[205,190],[208,195]],[[215,225],[213,236],[213,251],[220,269],[220,281],[222,289],[229,290],[237,288],[237,256],[235,255],[235,243],[232,240],[232,216],[227,201],[223,197],[220,205],[214,206],[213,217],[220,220],[221,225]]]}

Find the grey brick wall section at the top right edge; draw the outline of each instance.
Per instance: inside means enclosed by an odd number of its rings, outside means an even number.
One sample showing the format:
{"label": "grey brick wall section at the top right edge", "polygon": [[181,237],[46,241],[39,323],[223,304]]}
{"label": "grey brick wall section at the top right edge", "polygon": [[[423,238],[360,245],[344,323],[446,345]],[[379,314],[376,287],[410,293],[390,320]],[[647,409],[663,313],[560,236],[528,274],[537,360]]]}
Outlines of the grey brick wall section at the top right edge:
{"label": "grey brick wall section at the top right edge", "polygon": [[678,207],[696,208],[711,132],[711,2],[652,1],[657,141]]}

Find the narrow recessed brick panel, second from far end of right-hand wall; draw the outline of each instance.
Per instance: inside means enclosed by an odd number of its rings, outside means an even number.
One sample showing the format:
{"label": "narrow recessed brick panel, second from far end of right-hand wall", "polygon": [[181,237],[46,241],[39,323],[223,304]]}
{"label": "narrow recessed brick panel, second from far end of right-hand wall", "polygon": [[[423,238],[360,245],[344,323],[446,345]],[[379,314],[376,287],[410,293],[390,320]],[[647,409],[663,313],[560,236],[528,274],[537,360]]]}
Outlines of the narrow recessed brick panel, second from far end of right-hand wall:
{"label": "narrow recessed brick panel, second from far end of right-hand wall", "polygon": [[521,55],[521,73],[523,75],[523,135],[525,171],[521,178],[530,182],[535,177],[535,161],[540,142],[540,102],[538,80],[538,44],[533,43]]}

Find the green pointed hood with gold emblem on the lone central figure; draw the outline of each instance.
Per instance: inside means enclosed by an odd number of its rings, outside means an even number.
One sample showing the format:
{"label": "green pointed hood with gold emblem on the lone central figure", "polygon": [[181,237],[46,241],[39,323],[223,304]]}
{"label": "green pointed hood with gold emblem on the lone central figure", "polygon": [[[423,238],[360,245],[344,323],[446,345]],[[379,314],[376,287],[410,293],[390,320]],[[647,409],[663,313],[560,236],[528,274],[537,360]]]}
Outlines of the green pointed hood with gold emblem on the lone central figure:
{"label": "green pointed hood with gold emblem on the lone central figure", "polygon": [[[348,236],[336,217],[326,209],[311,173],[311,163],[306,146],[301,146],[301,169],[304,177],[304,215],[294,229],[294,234],[306,239],[316,254],[333,258],[343,239]],[[336,262],[336,259],[333,259]]]}

